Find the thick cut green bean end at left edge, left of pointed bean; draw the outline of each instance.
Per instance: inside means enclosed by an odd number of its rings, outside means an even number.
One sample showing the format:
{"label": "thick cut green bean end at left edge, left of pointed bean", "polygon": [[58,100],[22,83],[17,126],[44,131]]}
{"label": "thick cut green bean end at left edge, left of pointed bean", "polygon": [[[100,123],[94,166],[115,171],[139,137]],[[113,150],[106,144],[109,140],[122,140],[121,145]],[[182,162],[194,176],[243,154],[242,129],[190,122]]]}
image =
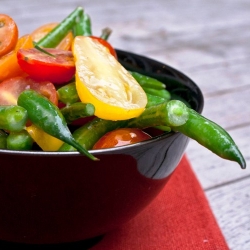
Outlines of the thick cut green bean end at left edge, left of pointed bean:
{"label": "thick cut green bean end at left edge, left of pointed bean", "polygon": [[0,129],[21,131],[28,119],[26,109],[16,105],[0,106]]}

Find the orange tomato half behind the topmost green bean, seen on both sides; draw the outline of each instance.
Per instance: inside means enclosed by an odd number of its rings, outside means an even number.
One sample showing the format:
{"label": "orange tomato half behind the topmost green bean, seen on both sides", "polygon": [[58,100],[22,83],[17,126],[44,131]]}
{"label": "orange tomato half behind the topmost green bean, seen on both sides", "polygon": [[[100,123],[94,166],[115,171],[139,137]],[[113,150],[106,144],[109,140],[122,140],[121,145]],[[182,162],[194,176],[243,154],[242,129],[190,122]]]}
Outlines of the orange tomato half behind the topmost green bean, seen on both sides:
{"label": "orange tomato half behind the topmost green bean, seen on both sides", "polygon": [[[52,29],[54,29],[58,23],[48,23],[42,25],[31,33],[34,42],[38,42],[45,35],[47,35]],[[71,44],[74,39],[73,33],[69,32],[68,35],[56,46],[56,49],[70,50]]]}

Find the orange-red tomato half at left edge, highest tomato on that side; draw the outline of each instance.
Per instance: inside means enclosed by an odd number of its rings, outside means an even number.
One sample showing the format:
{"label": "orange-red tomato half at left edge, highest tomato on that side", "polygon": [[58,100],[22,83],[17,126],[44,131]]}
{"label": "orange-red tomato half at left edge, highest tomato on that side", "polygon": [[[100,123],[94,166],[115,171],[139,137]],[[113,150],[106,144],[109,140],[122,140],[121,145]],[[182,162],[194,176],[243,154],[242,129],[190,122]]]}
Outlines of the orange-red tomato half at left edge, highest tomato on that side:
{"label": "orange-red tomato half at left edge, highest tomato on that side", "polygon": [[16,46],[18,28],[8,15],[0,14],[0,57],[9,53]]}

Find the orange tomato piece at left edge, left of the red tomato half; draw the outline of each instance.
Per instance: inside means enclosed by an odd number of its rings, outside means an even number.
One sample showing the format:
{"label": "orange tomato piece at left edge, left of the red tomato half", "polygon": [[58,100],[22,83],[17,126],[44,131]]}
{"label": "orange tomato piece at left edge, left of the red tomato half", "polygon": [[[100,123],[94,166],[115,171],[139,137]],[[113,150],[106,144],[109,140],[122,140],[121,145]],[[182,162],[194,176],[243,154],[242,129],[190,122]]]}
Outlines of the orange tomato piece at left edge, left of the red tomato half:
{"label": "orange tomato piece at left edge, left of the red tomato half", "polygon": [[11,77],[26,75],[17,62],[16,52],[21,48],[33,48],[33,41],[30,35],[19,38],[15,49],[0,58],[0,82]]}

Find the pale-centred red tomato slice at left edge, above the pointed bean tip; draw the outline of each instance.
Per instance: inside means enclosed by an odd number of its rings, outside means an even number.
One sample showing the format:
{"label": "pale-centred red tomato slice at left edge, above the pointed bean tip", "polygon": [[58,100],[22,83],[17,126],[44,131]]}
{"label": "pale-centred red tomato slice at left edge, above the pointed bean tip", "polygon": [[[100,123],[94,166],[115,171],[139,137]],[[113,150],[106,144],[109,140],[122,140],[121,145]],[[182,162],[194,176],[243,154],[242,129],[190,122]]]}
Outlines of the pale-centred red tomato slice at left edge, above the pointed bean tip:
{"label": "pale-centred red tomato slice at left edge, above the pointed bean tip", "polygon": [[13,77],[0,83],[0,105],[16,105],[18,96],[25,89],[34,89],[58,105],[54,84],[48,81],[38,82],[22,76]]}

